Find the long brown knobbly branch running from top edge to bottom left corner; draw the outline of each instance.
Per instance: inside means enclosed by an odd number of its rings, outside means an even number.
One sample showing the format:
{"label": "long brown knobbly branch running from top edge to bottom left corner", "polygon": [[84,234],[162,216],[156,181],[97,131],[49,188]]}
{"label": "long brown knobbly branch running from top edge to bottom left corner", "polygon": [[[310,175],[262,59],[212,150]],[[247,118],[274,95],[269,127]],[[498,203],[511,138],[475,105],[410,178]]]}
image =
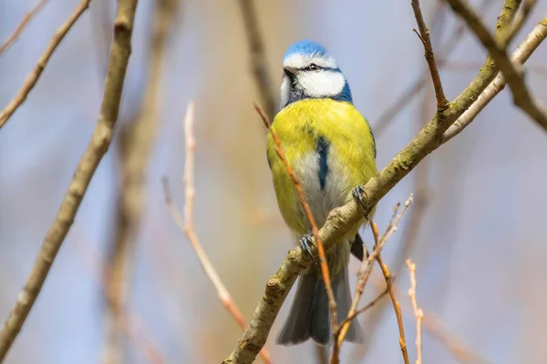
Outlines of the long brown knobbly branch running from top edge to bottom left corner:
{"label": "long brown knobbly branch running from top edge to bottom left corner", "polygon": [[108,77],[97,126],[84,155],[76,167],[74,177],[72,177],[68,186],[67,194],[57,212],[57,217],[42,242],[40,252],[26,281],[26,285],[19,293],[15,307],[5,321],[4,329],[0,332],[0,362],[5,359],[7,351],[11,348],[19,330],[25,323],[30,309],[35,304],[36,298],[46,280],[49,268],[51,268],[57,252],[67,237],[69,228],[72,226],[77,209],[88,189],[89,182],[98,167],[98,163],[107,152],[114,135],[114,126],[118,120],[123,81],[131,53],[131,34],[136,7],[137,0],[119,0],[116,21],[114,22],[114,41],[110,49]]}

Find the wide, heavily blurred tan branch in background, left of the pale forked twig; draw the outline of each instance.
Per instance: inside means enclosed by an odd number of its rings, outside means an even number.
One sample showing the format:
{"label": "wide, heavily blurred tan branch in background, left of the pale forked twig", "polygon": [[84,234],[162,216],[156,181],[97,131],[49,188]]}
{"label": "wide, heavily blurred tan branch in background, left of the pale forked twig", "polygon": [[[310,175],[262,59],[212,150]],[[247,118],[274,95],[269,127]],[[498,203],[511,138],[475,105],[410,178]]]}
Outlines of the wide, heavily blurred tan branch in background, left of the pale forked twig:
{"label": "wide, heavily blurred tan branch in background, left of the pale forked twig", "polygon": [[150,31],[150,60],[139,115],[119,130],[120,189],[113,243],[108,247],[111,269],[105,272],[111,299],[107,300],[106,362],[123,362],[121,308],[127,305],[135,244],[147,202],[146,175],[160,121],[158,104],[168,40],[180,0],[157,0]]}

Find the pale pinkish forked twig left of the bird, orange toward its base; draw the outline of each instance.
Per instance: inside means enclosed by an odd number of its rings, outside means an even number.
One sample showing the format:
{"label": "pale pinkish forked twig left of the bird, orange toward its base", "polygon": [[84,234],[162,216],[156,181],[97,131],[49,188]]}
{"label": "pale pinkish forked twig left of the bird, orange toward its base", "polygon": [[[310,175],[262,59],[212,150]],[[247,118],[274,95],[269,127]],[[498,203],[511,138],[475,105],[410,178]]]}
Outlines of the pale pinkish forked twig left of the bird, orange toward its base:
{"label": "pale pinkish forked twig left of the bird, orange toward its base", "polygon": [[[205,253],[205,250],[201,247],[200,238],[196,233],[193,223],[193,207],[195,187],[193,181],[194,174],[194,154],[196,141],[193,134],[193,119],[194,119],[194,105],[191,102],[186,110],[186,116],[184,117],[184,136],[185,136],[185,162],[184,162],[184,187],[185,187],[185,201],[184,201],[184,218],[181,217],[179,209],[172,202],[170,195],[170,187],[167,178],[163,178],[163,192],[165,197],[165,203],[170,209],[171,216],[177,223],[177,226],[181,228],[186,237],[190,240],[191,248],[196,252],[196,256],[200,259],[201,268],[205,271],[207,278],[212,282],[212,285],[217,291],[217,296],[222,303],[222,306],[232,315],[233,319],[237,322],[240,328],[245,329],[247,323],[243,319],[243,314],[237,307],[232,299],[232,295],[228,292],[228,289],[222,283],[222,279],[214,269],[211,260]],[[270,354],[266,349],[262,349],[260,355],[264,363],[271,363]]]}

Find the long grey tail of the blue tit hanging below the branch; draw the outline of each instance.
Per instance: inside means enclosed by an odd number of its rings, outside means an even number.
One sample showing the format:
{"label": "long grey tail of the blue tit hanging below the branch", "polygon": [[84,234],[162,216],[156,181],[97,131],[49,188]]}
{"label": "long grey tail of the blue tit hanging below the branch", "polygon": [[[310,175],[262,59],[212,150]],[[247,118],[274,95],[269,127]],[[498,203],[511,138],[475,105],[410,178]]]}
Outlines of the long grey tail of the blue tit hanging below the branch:
{"label": "long grey tail of the blue tit hanging below the branch", "polygon": [[[294,296],[289,317],[277,337],[281,345],[294,345],[310,337],[320,345],[328,345],[332,341],[330,311],[325,281],[320,272],[304,273]],[[333,293],[336,299],[336,314],[338,321],[346,319],[351,306],[351,292],[347,266],[332,280]],[[357,319],[353,319],[346,333],[346,341],[362,342],[363,335]]]}

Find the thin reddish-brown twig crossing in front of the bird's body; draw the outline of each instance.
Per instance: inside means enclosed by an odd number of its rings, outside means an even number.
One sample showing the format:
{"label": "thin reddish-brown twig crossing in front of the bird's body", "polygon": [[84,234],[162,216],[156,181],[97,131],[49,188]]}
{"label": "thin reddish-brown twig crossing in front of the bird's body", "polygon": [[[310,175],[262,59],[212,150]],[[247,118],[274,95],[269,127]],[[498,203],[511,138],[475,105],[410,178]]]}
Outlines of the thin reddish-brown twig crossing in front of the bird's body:
{"label": "thin reddish-brown twig crossing in front of the bird's body", "polygon": [[319,229],[317,228],[317,224],[315,224],[315,218],[314,218],[314,215],[312,214],[312,209],[310,208],[310,206],[305,200],[302,186],[300,185],[300,182],[298,181],[298,177],[296,177],[296,174],[294,174],[293,168],[289,164],[289,161],[286,159],[284,155],[283,147],[281,147],[281,140],[279,139],[279,136],[277,136],[277,134],[275,134],[274,130],[272,129],[268,116],[264,114],[263,109],[260,106],[254,104],[254,108],[263,119],[264,126],[266,126],[266,128],[270,132],[270,135],[274,139],[275,151],[277,152],[277,155],[283,161],[284,167],[286,168],[287,173],[293,180],[294,189],[296,189],[298,197],[300,198],[300,203],[304,207],[305,215],[308,218],[310,225],[312,226],[312,233],[315,239],[315,246],[319,253],[319,264],[321,266],[321,273],[323,275],[323,280],[325,281],[326,295],[328,296],[328,307],[330,308],[332,330],[333,332],[335,332],[338,329],[338,318],[336,314],[335,294],[331,286],[330,274],[328,271],[328,265],[326,263],[325,247],[323,246],[322,239],[319,237]]}

